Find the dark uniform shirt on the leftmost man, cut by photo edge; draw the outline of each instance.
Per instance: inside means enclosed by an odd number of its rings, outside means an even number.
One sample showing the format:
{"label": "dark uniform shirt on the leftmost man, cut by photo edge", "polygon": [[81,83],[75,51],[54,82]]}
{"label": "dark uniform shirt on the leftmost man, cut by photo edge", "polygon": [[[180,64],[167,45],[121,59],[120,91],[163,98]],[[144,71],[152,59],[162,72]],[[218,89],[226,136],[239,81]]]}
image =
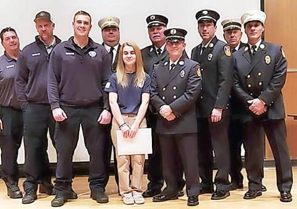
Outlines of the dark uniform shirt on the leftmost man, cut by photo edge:
{"label": "dark uniform shirt on the leftmost man, cut by photo edge", "polygon": [[0,105],[20,109],[15,90],[16,60],[4,52],[0,57]]}

